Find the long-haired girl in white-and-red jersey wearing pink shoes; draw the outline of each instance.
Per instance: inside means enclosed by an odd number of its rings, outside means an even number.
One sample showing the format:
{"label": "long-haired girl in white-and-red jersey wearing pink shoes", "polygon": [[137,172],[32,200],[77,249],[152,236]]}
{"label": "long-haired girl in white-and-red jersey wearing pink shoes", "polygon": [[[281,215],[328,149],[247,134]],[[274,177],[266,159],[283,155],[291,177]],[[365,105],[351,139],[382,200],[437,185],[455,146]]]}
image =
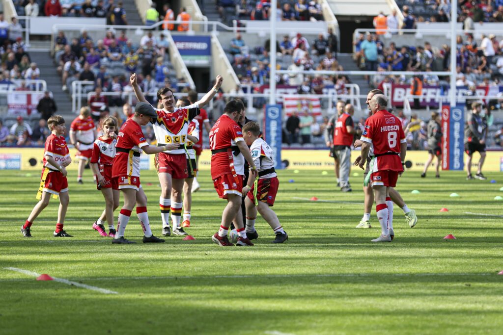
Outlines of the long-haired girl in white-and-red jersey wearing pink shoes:
{"label": "long-haired girl in white-and-red jersey wearing pink shoes", "polygon": [[[101,121],[100,129],[103,135],[95,141],[93,155],[91,156],[91,167],[96,173],[98,189],[101,190],[105,198],[105,210],[93,224],[93,229],[101,236],[115,237],[114,210],[119,207],[119,185],[112,179],[112,163],[115,157],[115,130],[117,129],[117,119],[107,116]],[[103,226],[104,220],[108,222],[109,232],[107,234]]]}

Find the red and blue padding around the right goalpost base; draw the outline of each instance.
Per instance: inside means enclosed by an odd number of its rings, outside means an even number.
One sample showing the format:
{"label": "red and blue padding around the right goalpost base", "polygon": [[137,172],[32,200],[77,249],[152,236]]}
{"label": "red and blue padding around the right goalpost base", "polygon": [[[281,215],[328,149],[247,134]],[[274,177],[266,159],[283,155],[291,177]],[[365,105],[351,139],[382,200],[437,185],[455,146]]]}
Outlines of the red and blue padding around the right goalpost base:
{"label": "red and blue padding around the right goalpost base", "polygon": [[464,168],[465,105],[442,106],[442,170]]}

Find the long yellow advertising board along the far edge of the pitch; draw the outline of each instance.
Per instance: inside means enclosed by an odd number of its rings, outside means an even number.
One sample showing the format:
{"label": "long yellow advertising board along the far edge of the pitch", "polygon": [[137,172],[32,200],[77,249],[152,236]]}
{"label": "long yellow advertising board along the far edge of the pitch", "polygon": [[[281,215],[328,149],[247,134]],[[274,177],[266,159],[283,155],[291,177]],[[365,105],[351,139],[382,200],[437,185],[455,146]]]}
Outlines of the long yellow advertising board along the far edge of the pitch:
{"label": "long yellow advertising board along the far edge of the pitch", "polygon": [[[72,159],[75,157],[75,149],[70,149]],[[354,150],[351,159],[354,161],[360,151]],[[43,148],[0,148],[0,170],[1,169],[21,169],[21,170],[42,170]],[[288,161],[287,169],[297,170],[327,170],[333,169],[333,158],[328,157],[328,150],[283,150],[281,152],[283,161]],[[465,154],[465,162],[466,162]],[[473,166],[478,163],[478,153],[474,154]],[[408,151],[406,161],[411,167],[407,170],[421,171],[428,159],[427,151]],[[210,169],[211,153],[204,150],[199,159],[199,169]],[[141,155],[141,168],[154,169],[153,157],[151,155]],[[75,162],[74,162],[75,163]],[[76,170],[77,164],[70,164],[69,170]],[[485,159],[484,171],[501,172],[503,170],[503,151],[488,151]]]}

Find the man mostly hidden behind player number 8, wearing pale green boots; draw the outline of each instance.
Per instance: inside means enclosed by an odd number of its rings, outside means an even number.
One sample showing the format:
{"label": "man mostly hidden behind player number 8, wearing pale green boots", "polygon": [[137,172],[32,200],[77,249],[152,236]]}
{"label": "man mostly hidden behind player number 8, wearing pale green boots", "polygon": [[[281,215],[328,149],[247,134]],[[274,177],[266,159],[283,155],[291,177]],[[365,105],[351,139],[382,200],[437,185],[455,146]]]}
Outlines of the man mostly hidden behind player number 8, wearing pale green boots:
{"label": "man mostly hidden behind player number 8, wearing pale green boots", "polygon": [[[383,94],[383,92],[380,89],[373,89],[367,94],[367,101],[365,103],[367,104],[367,106],[369,106],[369,108],[370,108],[370,100],[375,94]],[[361,147],[362,143],[363,142],[361,140],[355,141],[354,144],[355,148]],[[372,148],[370,149],[369,155],[372,155]],[[360,159],[361,156],[357,158],[357,161],[359,161]],[[367,157],[365,171],[363,172],[364,179],[369,173],[370,168],[369,163],[370,158]],[[414,227],[417,224],[417,216],[415,214],[415,210],[408,208],[405,201],[403,201],[403,198],[401,197],[400,193],[398,193],[394,188],[390,187],[388,191],[391,200],[403,210],[403,213],[405,214],[405,221],[407,221],[409,227],[410,228]],[[360,220],[359,224],[356,226],[356,228],[372,228],[372,226],[370,225],[370,212],[372,211],[372,205],[374,203],[374,193],[372,192],[372,187],[364,184],[363,193],[364,193],[363,217]]]}

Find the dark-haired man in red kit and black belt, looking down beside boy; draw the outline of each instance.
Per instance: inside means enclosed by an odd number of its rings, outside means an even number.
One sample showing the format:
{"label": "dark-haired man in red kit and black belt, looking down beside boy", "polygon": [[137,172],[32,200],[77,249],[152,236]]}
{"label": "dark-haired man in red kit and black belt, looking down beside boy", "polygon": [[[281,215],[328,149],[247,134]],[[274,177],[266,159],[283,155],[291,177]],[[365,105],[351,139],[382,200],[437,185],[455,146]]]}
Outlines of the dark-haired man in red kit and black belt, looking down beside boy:
{"label": "dark-haired man in red kit and black belt, looking down beside boy", "polygon": [[210,131],[211,179],[218,196],[227,200],[222,213],[220,229],[211,238],[221,247],[233,246],[227,239],[231,222],[238,234],[236,245],[253,246],[246,237],[241,213],[242,180],[244,160],[250,165],[250,178],[258,174],[251,153],[244,143],[241,127],[237,122],[244,121],[244,104],[234,99],[225,105],[224,114],[215,122]]}

